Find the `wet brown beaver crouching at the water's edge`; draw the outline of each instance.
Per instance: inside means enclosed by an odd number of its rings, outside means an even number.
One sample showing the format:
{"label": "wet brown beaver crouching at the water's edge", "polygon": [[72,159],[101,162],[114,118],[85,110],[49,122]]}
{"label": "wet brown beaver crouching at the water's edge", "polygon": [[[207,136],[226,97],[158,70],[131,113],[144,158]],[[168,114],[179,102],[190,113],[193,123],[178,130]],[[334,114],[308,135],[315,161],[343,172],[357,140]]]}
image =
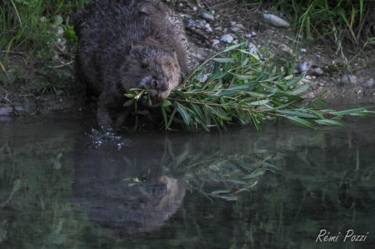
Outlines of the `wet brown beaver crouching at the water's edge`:
{"label": "wet brown beaver crouching at the water's edge", "polygon": [[125,121],[125,93],[167,98],[190,68],[183,23],[160,0],[93,0],[75,16],[76,74],[98,97],[99,125]]}

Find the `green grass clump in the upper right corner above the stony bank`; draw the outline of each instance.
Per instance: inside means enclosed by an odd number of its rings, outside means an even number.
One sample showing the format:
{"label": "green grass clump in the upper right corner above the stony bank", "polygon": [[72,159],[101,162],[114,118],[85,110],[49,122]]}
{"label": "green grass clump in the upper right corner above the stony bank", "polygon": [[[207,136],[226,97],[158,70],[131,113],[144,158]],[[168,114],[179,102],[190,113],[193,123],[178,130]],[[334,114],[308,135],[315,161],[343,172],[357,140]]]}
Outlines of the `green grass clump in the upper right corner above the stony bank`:
{"label": "green grass clump in the upper right corner above the stony bank", "polygon": [[298,42],[325,38],[338,46],[343,41],[362,46],[375,37],[374,0],[273,0],[272,3],[289,16]]}

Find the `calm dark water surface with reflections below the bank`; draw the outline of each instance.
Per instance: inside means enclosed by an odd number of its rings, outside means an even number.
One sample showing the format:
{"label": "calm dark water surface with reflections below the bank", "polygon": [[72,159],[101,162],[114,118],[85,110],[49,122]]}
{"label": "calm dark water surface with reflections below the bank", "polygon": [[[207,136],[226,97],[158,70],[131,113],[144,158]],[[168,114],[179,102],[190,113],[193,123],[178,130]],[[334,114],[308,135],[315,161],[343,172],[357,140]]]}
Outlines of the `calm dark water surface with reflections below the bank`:
{"label": "calm dark water surface with reflections below the bank", "polygon": [[375,248],[375,118],[117,136],[94,122],[0,122],[0,248]]}

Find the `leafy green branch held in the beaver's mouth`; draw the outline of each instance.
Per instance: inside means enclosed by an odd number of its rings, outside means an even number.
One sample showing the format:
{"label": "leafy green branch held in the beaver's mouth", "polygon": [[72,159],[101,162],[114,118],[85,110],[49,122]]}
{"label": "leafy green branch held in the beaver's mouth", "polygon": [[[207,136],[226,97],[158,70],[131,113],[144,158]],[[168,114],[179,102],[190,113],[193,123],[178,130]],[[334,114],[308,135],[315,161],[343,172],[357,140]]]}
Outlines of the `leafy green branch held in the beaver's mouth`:
{"label": "leafy green branch held in the beaver's mouth", "polygon": [[[335,111],[319,109],[322,99],[308,102],[301,96],[309,84],[304,75],[293,77],[289,66],[282,70],[276,64],[259,59],[247,51],[247,42],[232,45],[210,56],[162,104],[164,127],[185,124],[198,127],[226,128],[229,123],[252,124],[260,130],[266,120],[286,118],[296,125],[317,128],[317,125],[342,125],[344,115],[375,114],[365,107]],[[207,73],[209,72],[209,73]],[[139,99],[146,91],[127,94]],[[147,96],[144,96],[147,98]]]}

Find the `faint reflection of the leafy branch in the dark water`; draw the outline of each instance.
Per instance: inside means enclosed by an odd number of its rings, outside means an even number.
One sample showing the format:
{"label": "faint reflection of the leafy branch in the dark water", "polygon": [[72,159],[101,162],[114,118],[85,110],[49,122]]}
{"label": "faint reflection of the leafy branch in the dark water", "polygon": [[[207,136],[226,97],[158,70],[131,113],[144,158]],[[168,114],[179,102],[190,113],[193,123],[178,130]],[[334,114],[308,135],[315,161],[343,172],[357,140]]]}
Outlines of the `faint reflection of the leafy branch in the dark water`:
{"label": "faint reflection of the leafy branch in the dark water", "polygon": [[173,166],[174,171],[184,173],[188,188],[208,198],[228,201],[237,200],[240,192],[256,187],[258,179],[266,171],[274,172],[279,168],[277,163],[284,162],[280,160],[279,154],[269,155],[267,151],[246,156],[188,152],[189,149],[186,148],[176,154],[176,151],[167,145],[161,163],[166,168]]}

